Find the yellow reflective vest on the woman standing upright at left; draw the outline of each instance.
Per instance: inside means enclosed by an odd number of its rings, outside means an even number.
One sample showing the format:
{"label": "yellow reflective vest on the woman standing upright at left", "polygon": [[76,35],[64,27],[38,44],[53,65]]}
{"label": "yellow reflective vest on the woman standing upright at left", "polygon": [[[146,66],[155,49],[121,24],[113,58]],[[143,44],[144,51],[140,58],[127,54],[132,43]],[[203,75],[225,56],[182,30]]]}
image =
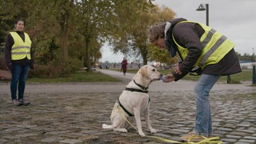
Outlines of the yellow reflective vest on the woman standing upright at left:
{"label": "yellow reflective vest on the woman standing upright at left", "polygon": [[25,35],[25,42],[16,32],[10,32],[10,35],[14,38],[14,45],[11,47],[11,60],[19,60],[23,58],[31,59],[30,48],[31,40],[28,34]]}

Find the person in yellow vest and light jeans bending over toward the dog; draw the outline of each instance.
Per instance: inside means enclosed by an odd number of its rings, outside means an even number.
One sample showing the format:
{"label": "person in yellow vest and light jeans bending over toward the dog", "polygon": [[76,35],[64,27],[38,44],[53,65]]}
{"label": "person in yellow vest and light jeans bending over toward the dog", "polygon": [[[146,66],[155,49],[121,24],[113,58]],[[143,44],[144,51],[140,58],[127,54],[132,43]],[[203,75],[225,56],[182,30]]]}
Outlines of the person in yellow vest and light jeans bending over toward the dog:
{"label": "person in yellow vest and light jeans bending over toward the dog", "polygon": [[201,75],[194,92],[197,113],[194,130],[182,136],[182,140],[198,142],[201,135],[212,136],[212,122],[209,93],[222,75],[241,72],[234,43],[218,31],[185,18],[174,18],[152,26],[150,42],[159,49],[167,49],[170,57],[179,55],[181,62],[174,65],[172,74],[167,74],[165,82],[177,82],[186,74]]}

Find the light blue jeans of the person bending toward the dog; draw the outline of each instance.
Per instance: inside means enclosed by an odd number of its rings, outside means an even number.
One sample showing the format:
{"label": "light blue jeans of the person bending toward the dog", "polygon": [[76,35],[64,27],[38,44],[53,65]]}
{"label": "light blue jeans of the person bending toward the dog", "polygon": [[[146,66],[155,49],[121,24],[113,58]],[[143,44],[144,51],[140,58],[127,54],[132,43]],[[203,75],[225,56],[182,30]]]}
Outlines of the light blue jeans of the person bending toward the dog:
{"label": "light blue jeans of the person bending toward the dog", "polygon": [[193,134],[209,137],[212,135],[209,93],[219,75],[202,74],[194,87],[197,114]]}

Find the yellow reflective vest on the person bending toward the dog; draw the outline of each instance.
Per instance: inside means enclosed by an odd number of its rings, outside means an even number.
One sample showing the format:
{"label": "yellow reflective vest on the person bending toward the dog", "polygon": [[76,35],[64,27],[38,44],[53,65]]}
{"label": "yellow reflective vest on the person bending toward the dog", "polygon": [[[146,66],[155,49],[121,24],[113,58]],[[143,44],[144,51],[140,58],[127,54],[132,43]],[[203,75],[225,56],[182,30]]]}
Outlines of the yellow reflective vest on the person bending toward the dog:
{"label": "yellow reflective vest on the person bending toward the dog", "polygon": [[[182,22],[190,22],[190,21],[182,21]],[[181,23],[181,22],[179,22]],[[234,43],[231,42],[226,36],[218,33],[218,31],[210,28],[209,26],[198,23],[202,26],[202,29],[205,30],[205,33],[202,34],[200,38],[200,42],[202,43],[202,54],[198,58],[198,61],[194,64],[194,66],[200,66],[204,68],[207,65],[218,63],[230,50],[234,48]],[[174,34],[172,34],[174,39]],[[188,54],[188,50],[175,41],[178,51],[181,54],[182,59],[186,58]]]}

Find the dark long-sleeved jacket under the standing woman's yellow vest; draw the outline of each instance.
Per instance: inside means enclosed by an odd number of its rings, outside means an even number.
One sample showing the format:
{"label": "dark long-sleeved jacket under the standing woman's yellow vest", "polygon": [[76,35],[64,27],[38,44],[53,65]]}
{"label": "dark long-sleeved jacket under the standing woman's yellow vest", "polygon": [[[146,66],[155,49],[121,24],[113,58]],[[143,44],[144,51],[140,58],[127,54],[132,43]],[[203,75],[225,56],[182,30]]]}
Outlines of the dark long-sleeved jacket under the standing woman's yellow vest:
{"label": "dark long-sleeved jacket under the standing woman's yellow vest", "polygon": [[[18,35],[25,41],[25,35],[22,31],[16,31]],[[18,65],[18,66],[26,66],[30,65],[30,68],[34,68],[34,57],[33,51],[30,50],[31,59],[23,58],[20,60],[11,60],[11,48],[14,45],[14,38],[8,34],[6,37],[6,46],[5,46],[5,58],[6,58],[6,65],[9,67],[10,65]]]}

